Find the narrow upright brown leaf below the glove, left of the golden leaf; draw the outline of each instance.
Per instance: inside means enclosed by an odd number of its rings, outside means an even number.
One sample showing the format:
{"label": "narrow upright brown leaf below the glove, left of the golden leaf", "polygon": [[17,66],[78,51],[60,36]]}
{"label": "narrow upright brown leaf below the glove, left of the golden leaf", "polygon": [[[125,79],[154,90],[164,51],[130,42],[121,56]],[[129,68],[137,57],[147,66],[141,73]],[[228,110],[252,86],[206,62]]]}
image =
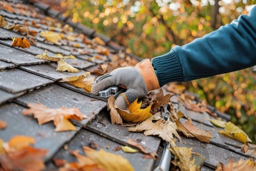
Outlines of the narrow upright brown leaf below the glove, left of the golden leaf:
{"label": "narrow upright brown leaf below the glove, left of the golden leaf", "polygon": [[122,117],[118,113],[116,107],[114,107],[114,101],[115,100],[116,99],[112,95],[107,100],[107,110],[110,110],[111,123],[112,124],[114,124],[114,123],[116,123],[116,124],[123,124]]}

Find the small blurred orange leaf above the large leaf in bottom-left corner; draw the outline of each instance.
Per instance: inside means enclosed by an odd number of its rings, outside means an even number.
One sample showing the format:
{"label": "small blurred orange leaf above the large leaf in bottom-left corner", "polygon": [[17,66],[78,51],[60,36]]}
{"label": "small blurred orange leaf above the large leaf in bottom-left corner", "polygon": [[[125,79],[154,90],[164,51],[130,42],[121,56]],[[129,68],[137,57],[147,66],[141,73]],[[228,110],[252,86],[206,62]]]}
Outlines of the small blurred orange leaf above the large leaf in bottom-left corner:
{"label": "small blurred orange leaf above the large leaf in bottom-left corner", "polygon": [[29,144],[34,144],[35,140],[33,137],[28,136],[15,136],[9,140],[9,147],[14,149],[22,149],[23,147],[29,146]]}

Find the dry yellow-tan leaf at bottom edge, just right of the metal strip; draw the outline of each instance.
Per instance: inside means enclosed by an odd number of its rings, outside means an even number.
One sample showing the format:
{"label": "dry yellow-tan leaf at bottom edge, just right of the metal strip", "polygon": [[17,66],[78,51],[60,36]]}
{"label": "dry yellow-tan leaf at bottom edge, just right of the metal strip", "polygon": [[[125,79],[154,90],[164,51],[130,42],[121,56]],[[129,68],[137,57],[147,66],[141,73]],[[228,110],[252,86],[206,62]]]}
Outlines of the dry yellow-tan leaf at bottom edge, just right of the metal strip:
{"label": "dry yellow-tan leaf at bottom edge, just right of the metal strip", "polygon": [[168,148],[174,155],[173,165],[178,166],[181,171],[196,171],[200,170],[204,165],[205,157],[198,153],[192,153],[192,147],[170,147]]}

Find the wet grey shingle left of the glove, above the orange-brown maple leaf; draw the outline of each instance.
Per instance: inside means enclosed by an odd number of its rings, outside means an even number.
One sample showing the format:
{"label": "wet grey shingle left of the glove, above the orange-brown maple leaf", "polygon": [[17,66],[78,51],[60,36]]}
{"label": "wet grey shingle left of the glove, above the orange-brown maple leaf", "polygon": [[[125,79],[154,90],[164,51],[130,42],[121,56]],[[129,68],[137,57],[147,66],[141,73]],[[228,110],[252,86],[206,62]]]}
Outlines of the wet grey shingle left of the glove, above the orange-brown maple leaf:
{"label": "wet grey shingle left of the glove, above the orange-brown maple leaf", "polygon": [[18,97],[15,101],[22,105],[26,105],[27,103],[41,103],[49,108],[60,108],[63,106],[67,108],[78,107],[81,113],[89,117],[78,122],[78,124],[83,126],[106,107],[105,101],[84,96],[57,84],[51,84],[39,90],[34,90],[22,97]]}

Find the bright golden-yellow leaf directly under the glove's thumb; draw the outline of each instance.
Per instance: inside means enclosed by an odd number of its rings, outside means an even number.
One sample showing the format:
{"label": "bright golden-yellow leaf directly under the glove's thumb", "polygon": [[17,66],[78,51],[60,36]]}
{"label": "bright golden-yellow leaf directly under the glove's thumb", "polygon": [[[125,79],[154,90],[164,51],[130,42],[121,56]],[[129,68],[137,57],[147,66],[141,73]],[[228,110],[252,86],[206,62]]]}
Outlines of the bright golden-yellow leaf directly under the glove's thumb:
{"label": "bright golden-yellow leaf directly under the glove's thumb", "polygon": [[128,112],[117,108],[117,111],[119,111],[119,114],[123,120],[136,123],[146,120],[152,116],[152,113],[150,113],[151,106],[147,106],[146,108],[142,109],[140,108],[142,106],[142,102],[137,103],[137,100],[138,99],[133,101],[133,103],[127,107]]}

